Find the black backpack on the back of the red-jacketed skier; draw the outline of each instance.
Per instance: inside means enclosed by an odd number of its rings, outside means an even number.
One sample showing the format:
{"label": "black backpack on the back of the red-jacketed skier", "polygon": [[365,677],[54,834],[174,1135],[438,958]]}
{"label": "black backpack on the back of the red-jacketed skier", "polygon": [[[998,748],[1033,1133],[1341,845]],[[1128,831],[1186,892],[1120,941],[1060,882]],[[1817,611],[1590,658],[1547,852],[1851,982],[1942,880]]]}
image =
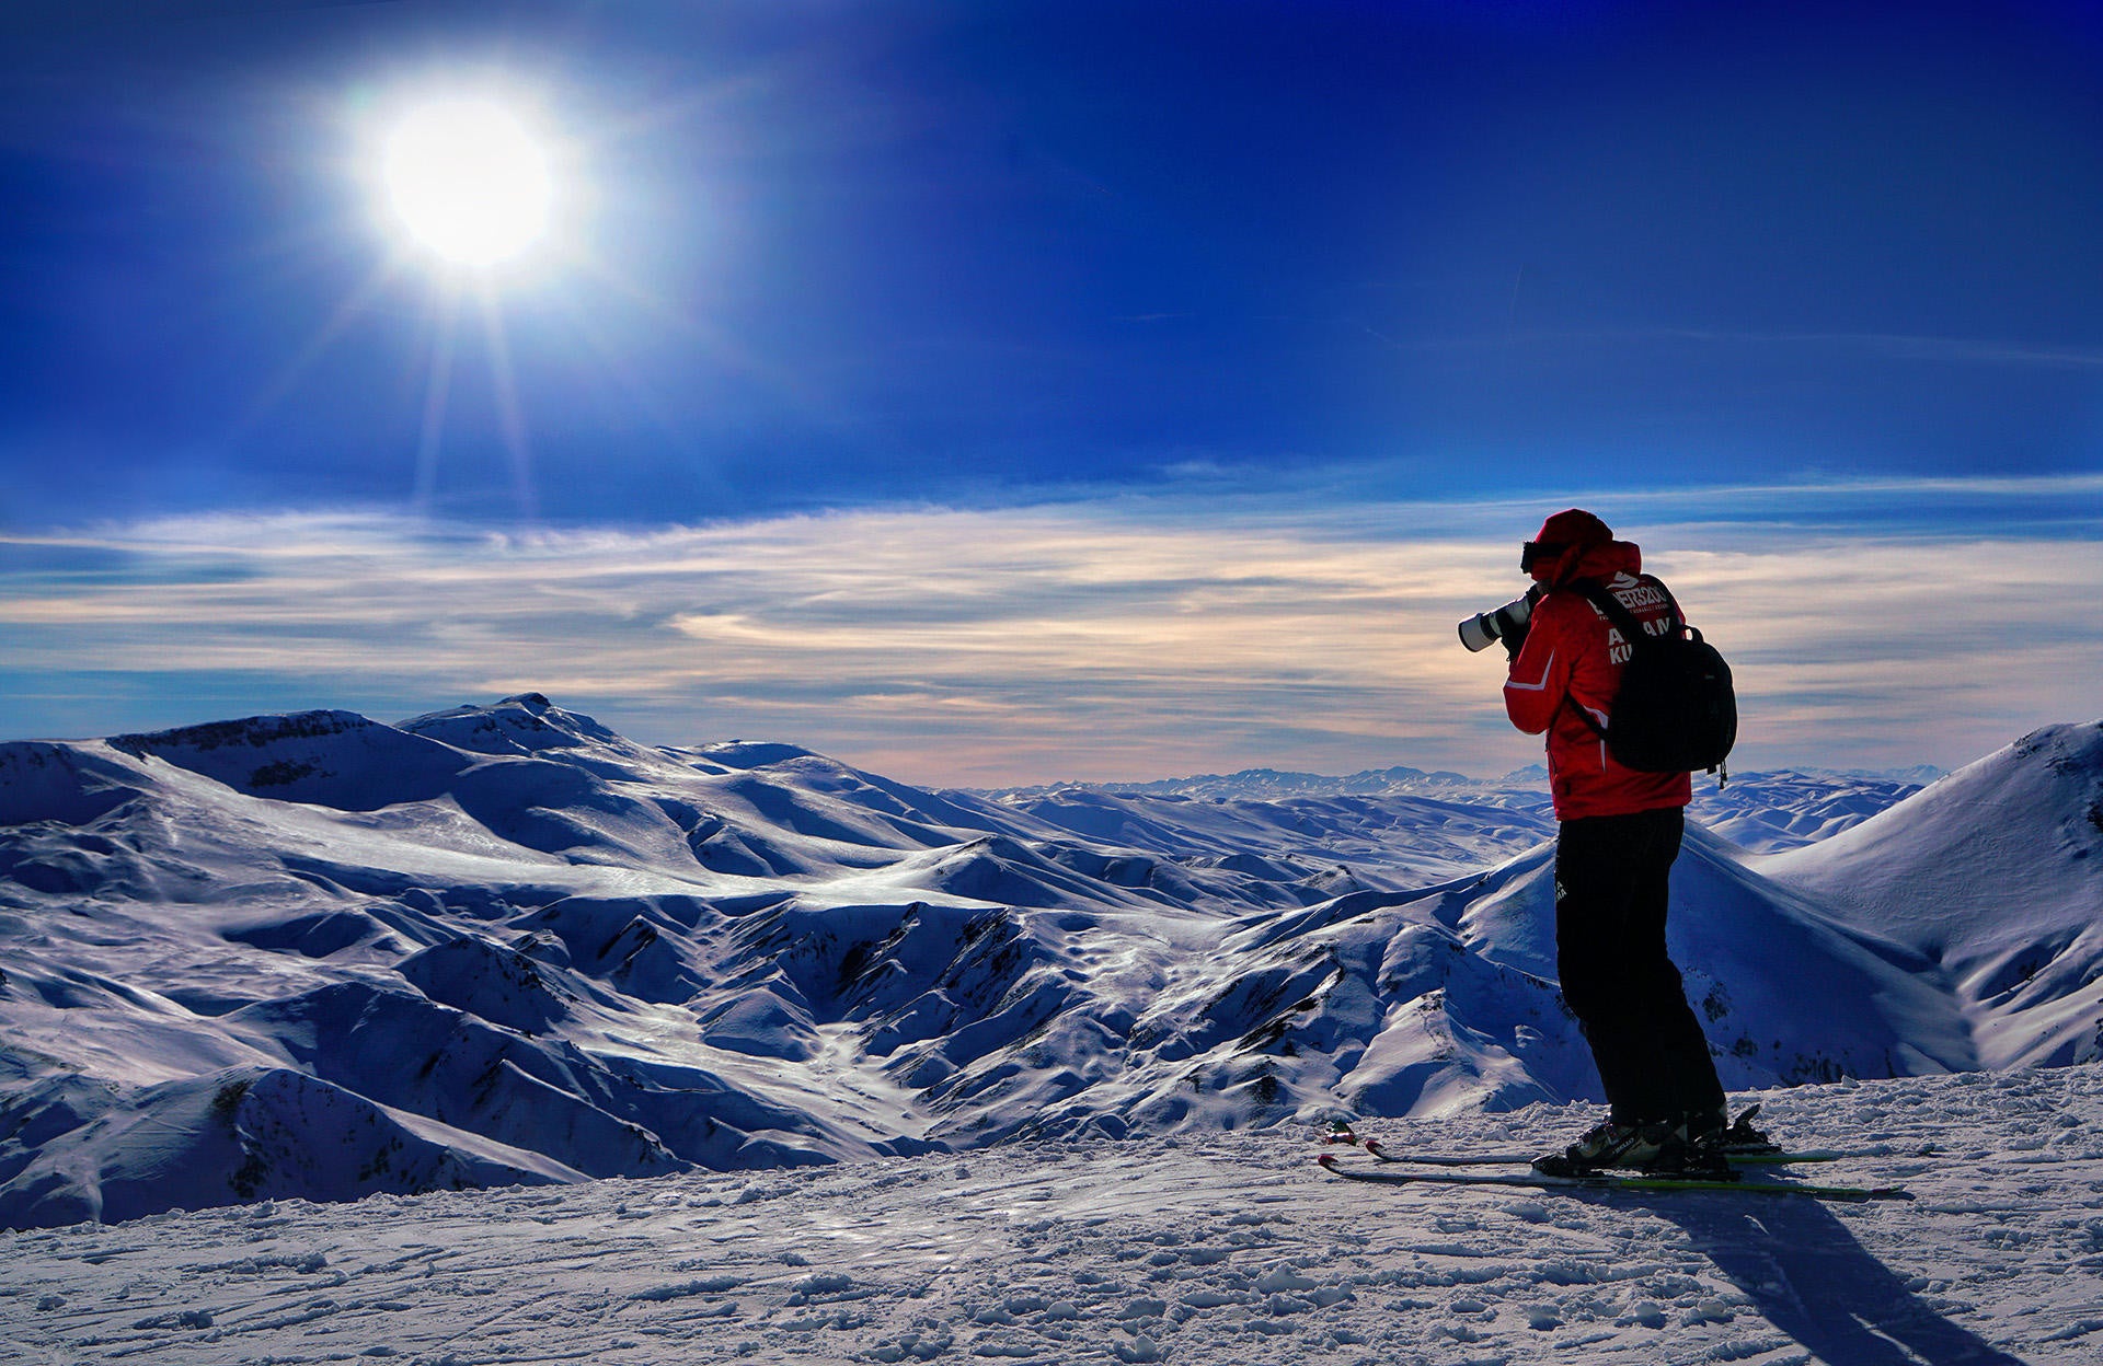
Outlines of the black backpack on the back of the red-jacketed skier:
{"label": "black backpack on the back of the red-jacketed skier", "polygon": [[1651,635],[1607,584],[1581,578],[1569,588],[1581,593],[1628,641],[1621,687],[1613,694],[1613,715],[1600,725],[1577,708],[1586,725],[1607,742],[1621,767],[1638,773],[1693,773],[1722,767],[1737,740],[1737,694],[1731,666],[1701,633],[1680,618],[1680,605],[1661,582],[1642,582],[1666,595],[1666,630]]}

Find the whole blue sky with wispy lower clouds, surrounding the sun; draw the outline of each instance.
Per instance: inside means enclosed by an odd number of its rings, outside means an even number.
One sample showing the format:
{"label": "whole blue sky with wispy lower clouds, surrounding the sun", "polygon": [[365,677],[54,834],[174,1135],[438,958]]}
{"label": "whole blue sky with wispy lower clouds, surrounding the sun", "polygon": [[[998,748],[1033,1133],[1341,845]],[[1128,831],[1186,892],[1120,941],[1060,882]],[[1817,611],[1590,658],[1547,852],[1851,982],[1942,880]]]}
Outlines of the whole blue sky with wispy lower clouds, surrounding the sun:
{"label": "whole blue sky with wispy lower clouds, surrounding the sun", "polygon": [[[540,687],[923,782],[1502,771],[1535,742],[1451,624],[1569,504],[1745,660],[1750,763],[2097,710],[2092,6],[32,0],[0,42],[8,733]],[[557,166],[488,284],[374,204],[444,90]]]}

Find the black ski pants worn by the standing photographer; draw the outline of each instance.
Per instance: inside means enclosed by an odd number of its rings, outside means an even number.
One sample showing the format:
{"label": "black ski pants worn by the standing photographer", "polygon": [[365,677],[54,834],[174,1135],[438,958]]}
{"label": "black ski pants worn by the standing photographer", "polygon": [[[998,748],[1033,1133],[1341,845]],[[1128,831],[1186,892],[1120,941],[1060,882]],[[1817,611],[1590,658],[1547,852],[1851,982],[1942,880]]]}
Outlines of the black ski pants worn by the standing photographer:
{"label": "black ski pants worn by the standing photographer", "polygon": [[1563,822],[1556,839],[1556,969],[1624,1124],[1722,1110],[1708,1038],[1666,954],[1678,807]]}

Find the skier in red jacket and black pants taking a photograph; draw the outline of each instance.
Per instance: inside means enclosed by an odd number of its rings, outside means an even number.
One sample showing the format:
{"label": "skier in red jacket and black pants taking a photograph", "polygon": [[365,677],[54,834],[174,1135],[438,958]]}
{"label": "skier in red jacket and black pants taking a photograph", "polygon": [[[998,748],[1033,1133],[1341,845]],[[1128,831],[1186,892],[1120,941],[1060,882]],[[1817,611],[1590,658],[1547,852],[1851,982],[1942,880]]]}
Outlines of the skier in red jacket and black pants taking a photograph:
{"label": "skier in red jacket and black pants taking a photograph", "polygon": [[1672,595],[1642,574],[1632,542],[1615,540],[1605,521],[1579,509],[1550,517],[1527,542],[1520,567],[1535,582],[1533,612],[1525,630],[1506,635],[1512,668],[1504,710],[1529,736],[1548,736],[1548,786],[1560,822],[1556,969],[1611,1105],[1605,1124],[1535,1166],[1552,1175],[1600,1166],[1729,1171],[1722,1084],[1666,952],[1670,874],[1693,780],[1638,773],[1607,752],[1600,729],[1611,725],[1630,647],[1607,614],[1569,586],[1596,580],[1659,630],[1676,616]]}

